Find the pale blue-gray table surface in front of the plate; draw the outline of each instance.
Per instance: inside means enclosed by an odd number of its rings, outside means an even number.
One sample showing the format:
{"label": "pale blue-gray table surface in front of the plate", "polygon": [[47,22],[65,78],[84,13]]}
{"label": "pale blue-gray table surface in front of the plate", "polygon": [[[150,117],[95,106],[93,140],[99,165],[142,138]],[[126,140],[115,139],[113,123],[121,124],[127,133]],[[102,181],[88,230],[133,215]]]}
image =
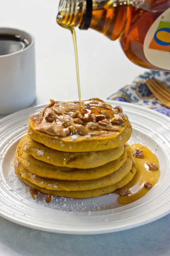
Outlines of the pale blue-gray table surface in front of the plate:
{"label": "pale blue-gray table surface in front of the plate", "polygon": [[101,235],[54,234],[0,217],[2,256],[169,256],[170,214],[131,230]]}

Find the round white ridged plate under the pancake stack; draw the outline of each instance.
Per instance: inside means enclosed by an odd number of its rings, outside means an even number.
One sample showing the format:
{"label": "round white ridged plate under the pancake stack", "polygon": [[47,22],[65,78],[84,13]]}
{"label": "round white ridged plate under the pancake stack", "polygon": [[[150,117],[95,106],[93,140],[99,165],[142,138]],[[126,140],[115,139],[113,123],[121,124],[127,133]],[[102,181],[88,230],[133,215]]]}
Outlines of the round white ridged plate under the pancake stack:
{"label": "round white ridged plate under the pancake stack", "polygon": [[170,119],[153,110],[125,102],[121,104],[133,126],[129,141],[143,143],[155,152],[160,162],[158,183],[142,198],[119,205],[111,193],[89,199],[45,195],[33,200],[29,187],[14,172],[13,159],[19,139],[27,133],[28,117],[44,108],[39,105],[0,120],[0,215],[12,222],[39,230],[67,234],[99,234],[134,228],[170,212]]}

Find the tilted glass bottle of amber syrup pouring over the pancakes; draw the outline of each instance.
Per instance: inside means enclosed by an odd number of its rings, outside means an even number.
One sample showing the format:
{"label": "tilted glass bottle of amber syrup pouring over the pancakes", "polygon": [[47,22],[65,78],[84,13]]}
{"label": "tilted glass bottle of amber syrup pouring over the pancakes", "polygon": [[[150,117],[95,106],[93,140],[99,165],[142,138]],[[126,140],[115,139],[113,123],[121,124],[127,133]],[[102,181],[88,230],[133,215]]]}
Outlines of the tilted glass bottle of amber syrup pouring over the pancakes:
{"label": "tilted glass bottle of amber syrup pouring over the pancakes", "polygon": [[119,39],[136,65],[170,71],[170,0],[60,0],[57,22]]}

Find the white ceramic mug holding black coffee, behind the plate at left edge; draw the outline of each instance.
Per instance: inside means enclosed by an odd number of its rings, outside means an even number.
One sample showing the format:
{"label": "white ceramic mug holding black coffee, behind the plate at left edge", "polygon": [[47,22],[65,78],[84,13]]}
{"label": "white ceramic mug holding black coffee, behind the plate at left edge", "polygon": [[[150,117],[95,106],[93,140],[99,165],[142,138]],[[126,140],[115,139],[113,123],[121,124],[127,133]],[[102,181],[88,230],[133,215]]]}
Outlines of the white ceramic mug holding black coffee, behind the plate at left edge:
{"label": "white ceramic mug holding black coffee, behind the plate at left edge", "polygon": [[20,51],[0,55],[0,115],[5,115],[35,101],[35,42],[32,35],[15,28],[0,28],[0,34],[20,35],[30,42]]}

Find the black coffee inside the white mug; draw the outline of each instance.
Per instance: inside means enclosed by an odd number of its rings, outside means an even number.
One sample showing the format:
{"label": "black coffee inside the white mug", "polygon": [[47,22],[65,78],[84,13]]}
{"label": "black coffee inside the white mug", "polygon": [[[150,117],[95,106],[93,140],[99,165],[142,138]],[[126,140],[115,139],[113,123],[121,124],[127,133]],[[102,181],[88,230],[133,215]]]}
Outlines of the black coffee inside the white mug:
{"label": "black coffee inside the white mug", "polygon": [[0,55],[14,53],[29,46],[30,42],[19,35],[0,34]]}

